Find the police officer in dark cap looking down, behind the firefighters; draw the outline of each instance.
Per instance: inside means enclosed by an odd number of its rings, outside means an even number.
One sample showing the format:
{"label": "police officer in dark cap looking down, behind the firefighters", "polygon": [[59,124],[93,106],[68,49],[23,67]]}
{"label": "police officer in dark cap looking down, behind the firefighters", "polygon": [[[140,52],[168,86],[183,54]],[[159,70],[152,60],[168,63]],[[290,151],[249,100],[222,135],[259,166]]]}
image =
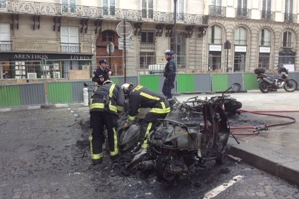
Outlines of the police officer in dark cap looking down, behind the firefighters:
{"label": "police officer in dark cap looking down, behind the firefighters", "polygon": [[92,81],[97,82],[98,85],[103,85],[106,80],[110,80],[112,71],[108,68],[106,59],[100,60],[100,66],[93,72]]}

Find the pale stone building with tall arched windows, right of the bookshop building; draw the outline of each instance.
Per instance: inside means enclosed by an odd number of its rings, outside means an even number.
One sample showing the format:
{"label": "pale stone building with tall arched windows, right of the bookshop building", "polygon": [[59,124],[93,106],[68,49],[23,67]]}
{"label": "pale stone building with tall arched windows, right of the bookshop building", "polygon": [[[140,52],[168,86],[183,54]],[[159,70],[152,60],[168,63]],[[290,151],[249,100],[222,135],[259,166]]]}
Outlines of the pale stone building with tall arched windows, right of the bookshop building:
{"label": "pale stone building with tall arched windows, right of the bookshop building", "polygon": [[[203,63],[211,70],[299,70],[298,0],[205,0]],[[231,48],[225,49],[225,41]],[[208,58],[208,60],[206,60]]]}

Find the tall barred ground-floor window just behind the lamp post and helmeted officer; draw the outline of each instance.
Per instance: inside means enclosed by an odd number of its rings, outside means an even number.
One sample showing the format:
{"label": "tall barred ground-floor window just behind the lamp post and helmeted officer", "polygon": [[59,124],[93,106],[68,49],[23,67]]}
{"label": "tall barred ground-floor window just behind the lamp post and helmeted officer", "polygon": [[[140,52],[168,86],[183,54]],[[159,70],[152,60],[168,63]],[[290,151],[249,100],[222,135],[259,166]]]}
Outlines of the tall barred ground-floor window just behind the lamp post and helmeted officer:
{"label": "tall barred ground-floor window just behind the lamp post and helmeted officer", "polygon": [[[184,68],[185,67],[185,36],[183,32],[178,32],[176,35],[176,63],[177,68]],[[175,51],[175,46],[173,45],[173,40],[171,37],[170,40],[170,49]]]}

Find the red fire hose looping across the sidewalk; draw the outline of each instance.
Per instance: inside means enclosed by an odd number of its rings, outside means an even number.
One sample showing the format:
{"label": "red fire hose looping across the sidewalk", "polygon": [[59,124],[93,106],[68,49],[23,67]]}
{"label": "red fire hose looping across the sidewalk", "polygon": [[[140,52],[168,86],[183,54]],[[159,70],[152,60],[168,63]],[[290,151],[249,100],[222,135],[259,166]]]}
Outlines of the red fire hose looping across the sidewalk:
{"label": "red fire hose looping across the sidewalk", "polygon": [[248,112],[248,113],[259,114],[259,115],[269,115],[269,116],[275,116],[275,117],[283,117],[283,118],[291,119],[292,121],[284,122],[284,123],[271,124],[271,125],[265,124],[264,126],[261,126],[261,127],[231,126],[230,129],[256,129],[252,133],[233,133],[234,135],[258,135],[260,133],[260,131],[268,130],[269,127],[287,125],[287,124],[292,124],[292,123],[296,122],[296,119],[294,117],[286,116],[286,115],[270,114],[269,112],[299,112],[299,110],[252,110],[252,111],[239,110],[239,111],[241,113],[242,112]]}

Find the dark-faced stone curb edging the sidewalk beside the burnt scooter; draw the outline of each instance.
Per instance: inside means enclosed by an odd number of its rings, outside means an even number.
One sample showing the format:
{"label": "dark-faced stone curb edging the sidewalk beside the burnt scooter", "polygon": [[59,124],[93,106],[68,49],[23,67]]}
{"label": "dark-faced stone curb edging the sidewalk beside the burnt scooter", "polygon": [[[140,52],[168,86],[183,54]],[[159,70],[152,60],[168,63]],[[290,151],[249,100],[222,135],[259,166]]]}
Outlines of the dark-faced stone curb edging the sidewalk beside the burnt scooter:
{"label": "dark-faced stone curb edging the sidewalk beside the burnt scooter", "polygon": [[[232,142],[232,140],[230,142]],[[228,153],[230,155],[241,158],[243,162],[255,168],[275,175],[292,184],[299,185],[298,159],[248,143],[241,142],[239,146],[236,145],[237,144],[228,144]]]}

